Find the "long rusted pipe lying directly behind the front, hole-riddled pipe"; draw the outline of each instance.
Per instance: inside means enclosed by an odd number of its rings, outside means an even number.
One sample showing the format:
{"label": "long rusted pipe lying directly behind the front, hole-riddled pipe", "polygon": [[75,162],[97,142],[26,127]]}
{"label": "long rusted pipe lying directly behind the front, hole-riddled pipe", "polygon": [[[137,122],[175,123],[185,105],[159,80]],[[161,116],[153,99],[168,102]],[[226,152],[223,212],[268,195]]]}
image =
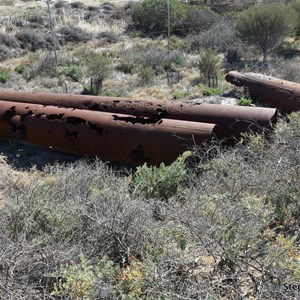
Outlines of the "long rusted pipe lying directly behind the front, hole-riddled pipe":
{"label": "long rusted pipe lying directly behind the front, hole-riddled pipe", "polygon": [[276,109],[218,104],[188,104],[179,101],[132,100],[128,98],[0,91],[0,99],[77,109],[106,111],[148,117],[218,124],[220,136],[238,138],[241,132],[261,131],[276,122]]}

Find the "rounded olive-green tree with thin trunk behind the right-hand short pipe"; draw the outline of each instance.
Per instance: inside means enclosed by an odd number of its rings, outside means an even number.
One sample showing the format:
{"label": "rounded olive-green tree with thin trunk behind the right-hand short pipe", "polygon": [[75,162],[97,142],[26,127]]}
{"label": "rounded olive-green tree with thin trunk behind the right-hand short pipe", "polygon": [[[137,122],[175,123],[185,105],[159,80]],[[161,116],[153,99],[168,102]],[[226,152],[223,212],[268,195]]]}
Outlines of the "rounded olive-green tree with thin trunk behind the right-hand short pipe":
{"label": "rounded olive-green tree with thin trunk behind the right-hand short pipe", "polygon": [[239,15],[236,28],[243,41],[262,50],[266,63],[268,54],[292,32],[294,14],[278,3],[255,5]]}

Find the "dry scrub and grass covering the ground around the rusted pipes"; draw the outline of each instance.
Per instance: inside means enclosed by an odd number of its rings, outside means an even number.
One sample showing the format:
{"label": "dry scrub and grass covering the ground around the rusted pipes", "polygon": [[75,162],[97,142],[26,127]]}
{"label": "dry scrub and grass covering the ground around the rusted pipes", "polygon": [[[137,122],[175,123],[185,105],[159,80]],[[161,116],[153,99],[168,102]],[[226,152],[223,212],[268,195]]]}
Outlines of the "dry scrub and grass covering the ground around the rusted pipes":
{"label": "dry scrub and grass covering the ground around the rusted pipes", "polygon": [[[272,36],[268,64],[241,36],[270,1],[172,0],[169,40],[158,2],[54,1],[56,63],[46,3],[3,1],[0,87],[198,103],[230,91],[258,106],[227,71],[300,83],[297,22]],[[274,24],[298,2],[278,1]],[[1,140],[0,299],[297,298],[299,132],[299,113],[281,113],[234,147],[137,168]]]}

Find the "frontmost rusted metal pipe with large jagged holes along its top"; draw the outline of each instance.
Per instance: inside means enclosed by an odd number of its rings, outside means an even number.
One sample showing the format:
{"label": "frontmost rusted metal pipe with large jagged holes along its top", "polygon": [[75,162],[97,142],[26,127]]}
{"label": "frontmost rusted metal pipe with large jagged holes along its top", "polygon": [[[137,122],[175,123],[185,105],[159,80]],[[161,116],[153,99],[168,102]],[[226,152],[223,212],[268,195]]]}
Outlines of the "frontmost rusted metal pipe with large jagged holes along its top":
{"label": "frontmost rusted metal pipe with large jagged holes along its top", "polygon": [[217,125],[0,101],[0,137],[130,165],[171,163]]}

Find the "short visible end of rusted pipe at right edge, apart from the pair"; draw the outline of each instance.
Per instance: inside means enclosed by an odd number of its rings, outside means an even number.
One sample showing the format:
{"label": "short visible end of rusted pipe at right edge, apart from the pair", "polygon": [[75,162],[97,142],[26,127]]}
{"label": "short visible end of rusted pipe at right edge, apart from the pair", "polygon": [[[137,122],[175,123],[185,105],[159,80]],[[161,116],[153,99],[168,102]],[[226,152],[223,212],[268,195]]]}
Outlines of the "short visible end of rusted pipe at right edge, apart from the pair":
{"label": "short visible end of rusted pipe at right edge, apart from the pair", "polygon": [[226,75],[226,80],[236,86],[245,86],[251,96],[272,107],[285,112],[300,109],[300,84],[282,80],[258,73],[245,73],[231,71]]}

